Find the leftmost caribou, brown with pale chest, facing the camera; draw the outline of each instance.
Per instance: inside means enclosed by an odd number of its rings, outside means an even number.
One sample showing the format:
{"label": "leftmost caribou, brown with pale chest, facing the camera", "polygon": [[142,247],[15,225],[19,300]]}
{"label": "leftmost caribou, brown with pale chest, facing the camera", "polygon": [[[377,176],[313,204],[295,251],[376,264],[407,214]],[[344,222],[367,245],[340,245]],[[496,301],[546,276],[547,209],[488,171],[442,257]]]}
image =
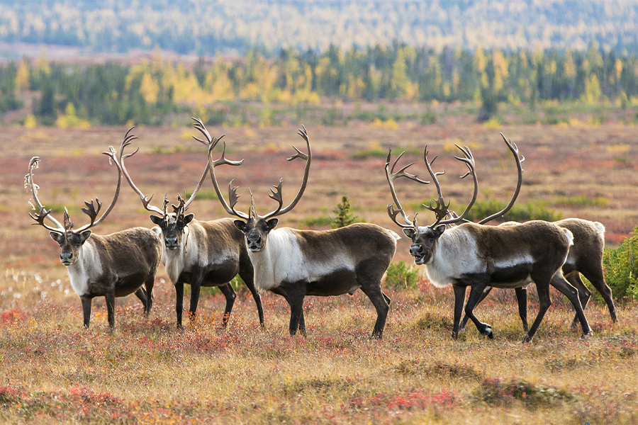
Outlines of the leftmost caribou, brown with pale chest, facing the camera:
{"label": "leftmost caribou, brown with pale chest, facing the camera", "polygon": [[[130,135],[130,130],[124,140],[135,138]],[[111,158],[116,157],[113,147],[110,152],[103,152]],[[101,203],[96,198],[97,207],[93,200],[84,201],[86,208],[82,212],[89,215],[91,222],[79,229],[73,229],[73,222],[65,208],[64,225],[50,215],[51,210],[46,210],[38,199],[38,185],[33,181],[33,170],[38,168],[40,158],[33,157],[29,162],[29,174],[25,176],[25,187],[33,193],[32,204],[34,214],[29,214],[35,223],[45,229],[49,229],[50,236],[60,244],[62,250],[60,261],[67,266],[69,280],[75,293],[82,300],[84,313],[84,327],[88,329],[91,319],[91,300],[94,297],[103,296],[106,300],[108,312],[108,326],[115,326],[115,298],[124,297],[135,293],[142,304],[146,317],[150,314],[153,305],[153,285],[155,272],[162,256],[162,246],[157,234],[151,229],[134,227],[121,232],[100,236],[91,233],[90,228],[99,225],[118,200],[122,173],[118,167],[118,185],[111,205],[103,215],[96,220],[101,209]],[[49,226],[45,218],[53,223]],[[145,288],[142,288],[142,285]]]}

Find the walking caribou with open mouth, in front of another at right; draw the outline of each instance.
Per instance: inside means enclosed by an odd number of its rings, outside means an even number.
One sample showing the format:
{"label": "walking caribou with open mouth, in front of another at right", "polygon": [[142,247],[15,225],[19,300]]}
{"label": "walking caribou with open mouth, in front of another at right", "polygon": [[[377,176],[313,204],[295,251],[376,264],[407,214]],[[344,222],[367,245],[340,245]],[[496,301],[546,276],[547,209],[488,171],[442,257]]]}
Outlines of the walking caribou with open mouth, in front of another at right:
{"label": "walking caribou with open mouth, in front of another at right", "polygon": [[[553,285],[564,293],[571,301],[578,319],[581,322],[583,336],[592,334],[587,323],[578,291],[564,278],[561,266],[566,261],[569,247],[573,244],[573,235],[568,229],[561,228],[549,222],[532,220],[516,226],[491,227],[463,222],[471,206],[474,205],[478,194],[478,179],[475,172],[474,157],[468,147],[457,147],[463,157],[456,157],[464,162],[469,171],[461,179],[471,175],[474,179],[474,194],[464,212],[451,219],[442,220],[449,214],[449,203],[446,205],[440,190],[437,176],[442,173],[432,172],[432,162],[427,161],[427,147],[424,152],[427,170],[435,181],[438,199],[435,206],[424,205],[427,210],[435,212],[436,221],[427,227],[419,227],[415,217],[410,221],[398,202],[393,181],[398,177],[415,179],[416,176],[405,173],[408,166],[394,173],[394,162],[389,169],[391,152],[386,161],[386,177],[394,203],[388,205],[388,215],[393,222],[403,228],[406,236],[412,239],[410,254],[416,264],[425,264],[427,277],[432,284],[442,288],[452,285],[454,288],[454,327],[452,338],[457,339],[459,322],[465,300],[465,290],[470,286],[469,300],[465,312],[474,322],[481,334],[493,338],[491,326],[480,322],[473,313],[474,306],[483,290],[489,285],[495,288],[520,288],[532,281],[536,284],[539,294],[539,312],[527,331],[524,341],[532,341],[545,312],[552,305],[549,297],[549,285]],[[393,208],[396,204],[397,209]],[[397,221],[401,214],[403,223]],[[446,225],[456,225],[446,229]]]}

